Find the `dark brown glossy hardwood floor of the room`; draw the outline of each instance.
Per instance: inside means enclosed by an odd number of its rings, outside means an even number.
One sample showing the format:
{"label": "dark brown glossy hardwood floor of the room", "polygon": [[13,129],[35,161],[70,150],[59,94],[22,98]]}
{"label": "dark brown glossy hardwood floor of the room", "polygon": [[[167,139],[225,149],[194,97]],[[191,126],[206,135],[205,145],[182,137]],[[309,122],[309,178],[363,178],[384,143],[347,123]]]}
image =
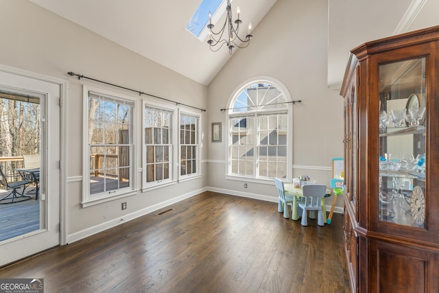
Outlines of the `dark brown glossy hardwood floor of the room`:
{"label": "dark brown glossy hardwood floor of the room", "polygon": [[305,227],[276,203],[214,192],[168,208],[0,268],[0,277],[44,278],[45,292],[350,290],[340,214]]}

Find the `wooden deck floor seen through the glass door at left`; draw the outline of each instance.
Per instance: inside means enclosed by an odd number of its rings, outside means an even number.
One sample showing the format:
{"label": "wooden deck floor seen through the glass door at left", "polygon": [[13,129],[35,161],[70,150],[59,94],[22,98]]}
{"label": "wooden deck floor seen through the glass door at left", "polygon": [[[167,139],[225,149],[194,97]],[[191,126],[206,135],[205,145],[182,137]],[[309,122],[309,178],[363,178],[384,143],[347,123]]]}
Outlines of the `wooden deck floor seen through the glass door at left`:
{"label": "wooden deck floor seen through the glass door at left", "polygon": [[[5,195],[1,192],[0,198]],[[40,228],[40,202],[34,196],[22,202],[0,204],[0,242]]]}

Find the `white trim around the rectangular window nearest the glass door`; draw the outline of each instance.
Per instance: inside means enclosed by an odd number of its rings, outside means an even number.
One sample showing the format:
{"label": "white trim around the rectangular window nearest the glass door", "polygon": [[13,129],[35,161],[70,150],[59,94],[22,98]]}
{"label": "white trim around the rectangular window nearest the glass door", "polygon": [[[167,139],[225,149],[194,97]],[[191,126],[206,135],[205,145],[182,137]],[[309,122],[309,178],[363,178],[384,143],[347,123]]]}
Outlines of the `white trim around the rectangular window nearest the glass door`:
{"label": "white trim around the rectangular window nearest the glass door", "polygon": [[[132,111],[132,117],[130,119],[132,120],[132,156],[131,156],[131,172],[130,172],[130,183],[131,187],[126,187],[122,189],[118,189],[115,192],[112,193],[102,193],[102,194],[90,194],[90,148],[88,145],[88,92],[93,93],[99,93],[102,95],[106,95],[108,97],[114,97],[115,99],[121,100],[127,100],[129,102],[132,102],[134,104],[133,111]],[[137,194],[137,101],[138,99],[134,99],[133,97],[130,97],[128,95],[121,95],[119,93],[115,93],[112,91],[106,91],[103,89],[94,88],[92,86],[86,86],[83,85],[82,88],[82,100],[83,100],[83,120],[82,120],[82,141],[83,141],[83,150],[82,150],[82,207],[91,207],[95,204],[101,204],[103,202],[109,202],[111,200],[117,200],[119,198],[124,198],[126,196],[132,196],[134,194]]]}

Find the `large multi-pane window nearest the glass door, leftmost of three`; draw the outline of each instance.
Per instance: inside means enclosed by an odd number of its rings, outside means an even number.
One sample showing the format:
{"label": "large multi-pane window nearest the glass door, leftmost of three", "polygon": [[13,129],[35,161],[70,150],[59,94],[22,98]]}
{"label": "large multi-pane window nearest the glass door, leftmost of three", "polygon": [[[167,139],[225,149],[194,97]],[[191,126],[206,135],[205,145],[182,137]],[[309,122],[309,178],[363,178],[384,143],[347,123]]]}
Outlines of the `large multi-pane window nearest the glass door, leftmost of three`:
{"label": "large multi-pane window nearest the glass door, leftmost of three", "polygon": [[[87,202],[127,194],[133,189],[134,101],[84,86],[84,196]],[[104,200],[106,201],[106,200]]]}

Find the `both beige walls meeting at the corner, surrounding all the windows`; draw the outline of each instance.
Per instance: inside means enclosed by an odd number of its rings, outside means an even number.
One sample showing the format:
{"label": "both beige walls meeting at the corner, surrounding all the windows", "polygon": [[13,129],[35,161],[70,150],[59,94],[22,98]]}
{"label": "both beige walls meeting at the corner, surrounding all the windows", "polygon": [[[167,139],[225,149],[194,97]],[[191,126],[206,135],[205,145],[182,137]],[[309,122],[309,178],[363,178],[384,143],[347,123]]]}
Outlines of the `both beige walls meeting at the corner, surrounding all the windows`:
{"label": "both beige walls meeting at the corner, surrounding all the windows", "polygon": [[[338,93],[327,87],[327,1],[278,0],[252,34],[250,47],[239,49],[207,88],[29,1],[0,0],[0,64],[69,82],[67,194],[63,195],[67,235],[80,234],[79,238],[94,233],[108,222],[117,224],[114,221],[125,215],[206,188],[275,201],[274,185],[251,183],[244,189],[242,182],[225,179],[226,116],[219,109],[228,106],[239,84],[257,76],[281,81],[292,99],[302,100],[294,106],[293,175],[307,174],[329,185],[330,160],[343,155],[343,106]],[[72,78],[69,71],[206,108],[202,114],[202,177],[83,209],[82,84],[141,97]],[[140,108],[137,115],[141,115]],[[222,143],[211,143],[210,125],[217,121],[223,123]],[[140,131],[137,136],[141,137]],[[140,187],[141,172],[137,179]],[[121,211],[121,201],[128,203],[126,211]]]}

